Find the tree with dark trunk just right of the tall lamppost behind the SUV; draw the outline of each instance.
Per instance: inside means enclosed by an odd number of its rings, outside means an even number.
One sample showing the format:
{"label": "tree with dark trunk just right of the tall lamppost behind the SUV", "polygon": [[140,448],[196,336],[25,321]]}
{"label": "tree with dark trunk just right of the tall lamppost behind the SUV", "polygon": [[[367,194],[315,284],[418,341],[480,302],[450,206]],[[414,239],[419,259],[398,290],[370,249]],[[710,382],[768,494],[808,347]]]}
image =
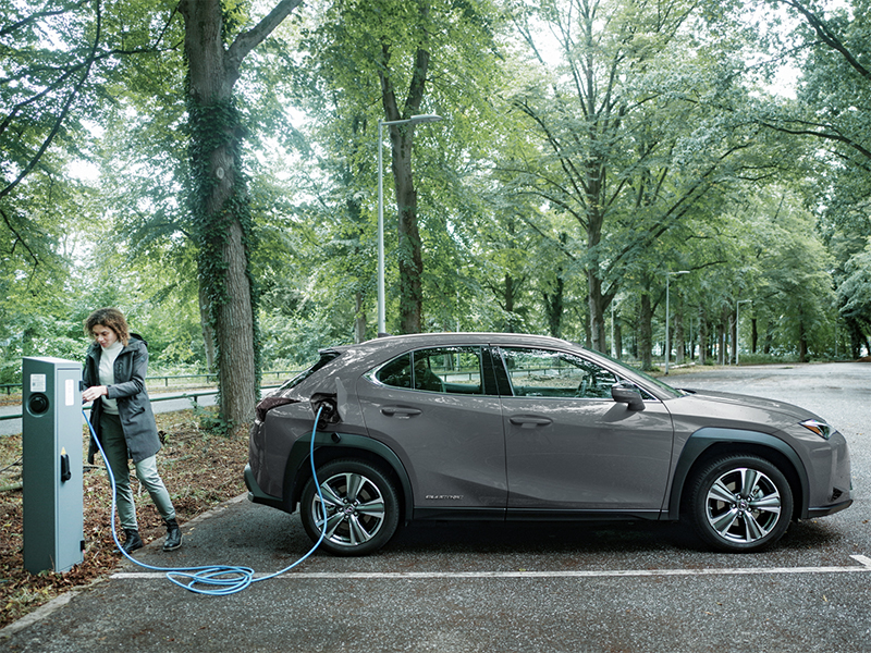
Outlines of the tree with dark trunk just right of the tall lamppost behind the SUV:
{"label": "tree with dark trunk just right of the tall lamppost behind the SUV", "polygon": [[[486,121],[491,112],[486,98],[495,79],[490,74],[494,13],[487,2],[333,2],[315,17],[305,41],[305,48],[312,53],[311,65],[318,66],[326,81],[324,94],[338,97],[336,104],[341,104],[339,120],[330,126],[347,133],[351,121],[358,121],[364,128],[354,132],[353,137],[372,144],[378,119],[406,121],[415,114],[434,113],[441,107],[439,113],[447,122],[438,130],[428,128],[425,136],[443,132],[445,136],[439,135],[438,139],[446,144],[451,134],[461,135],[456,139],[459,143],[442,146],[446,155],[433,159],[451,157],[462,167],[462,137],[473,132],[470,125]],[[413,175],[412,152],[416,135],[424,132],[410,123],[390,125],[387,131],[397,205],[398,329],[414,333],[425,322],[425,234],[420,224],[421,184]],[[436,138],[431,136],[430,140]],[[354,149],[364,151],[356,143],[345,144],[342,156],[349,158]],[[354,163],[356,175],[372,173],[371,167],[361,161]]]}

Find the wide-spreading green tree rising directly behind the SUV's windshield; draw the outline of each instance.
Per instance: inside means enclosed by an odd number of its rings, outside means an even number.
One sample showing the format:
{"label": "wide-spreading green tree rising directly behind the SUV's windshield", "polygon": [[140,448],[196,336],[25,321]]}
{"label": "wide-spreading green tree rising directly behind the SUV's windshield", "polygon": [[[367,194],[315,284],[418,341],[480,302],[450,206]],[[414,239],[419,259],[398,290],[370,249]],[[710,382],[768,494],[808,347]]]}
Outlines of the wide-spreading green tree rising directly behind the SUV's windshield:
{"label": "wide-spreading green tree rising directly behind the SUV's windshield", "polygon": [[527,193],[577,221],[591,345],[604,350],[605,311],[634,260],[741,165],[765,163],[738,157],[755,131],[719,104],[746,93],[731,52],[717,59],[703,38],[688,38],[703,29],[697,3],[548,1],[538,13],[515,3],[513,17],[540,71],[518,76],[511,98],[540,143],[540,156],[514,172]]}

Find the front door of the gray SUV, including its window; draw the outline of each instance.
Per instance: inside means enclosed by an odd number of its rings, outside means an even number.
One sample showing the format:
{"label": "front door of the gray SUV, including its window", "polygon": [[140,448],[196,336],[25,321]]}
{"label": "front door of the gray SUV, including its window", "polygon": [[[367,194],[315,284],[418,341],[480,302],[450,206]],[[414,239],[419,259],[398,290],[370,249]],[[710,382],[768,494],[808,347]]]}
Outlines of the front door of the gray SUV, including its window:
{"label": "front door of the gray SUV, including its window", "polygon": [[660,510],[674,432],[661,402],[617,404],[618,378],[572,354],[504,347],[501,357],[510,513]]}

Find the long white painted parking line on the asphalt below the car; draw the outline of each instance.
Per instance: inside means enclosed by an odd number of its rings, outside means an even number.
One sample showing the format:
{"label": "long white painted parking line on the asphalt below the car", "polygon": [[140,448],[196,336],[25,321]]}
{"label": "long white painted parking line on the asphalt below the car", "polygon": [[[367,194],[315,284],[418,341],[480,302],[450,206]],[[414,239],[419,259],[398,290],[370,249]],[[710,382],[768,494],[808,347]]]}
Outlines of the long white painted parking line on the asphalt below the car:
{"label": "long white painted parking line on the asphalt below the car", "polygon": [[[627,577],[666,577],[666,576],[765,576],[771,574],[851,574],[871,571],[871,558],[864,555],[851,555],[859,566],[850,567],[726,567],[723,569],[589,569],[562,571],[293,571],[277,578],[285,580],[429,580],[454,578],[627,578]],[[256,574],[262,578],[269,574]],[[111,578],[119,579],[165,579],[165,575],[154,571],[119,571]]]}

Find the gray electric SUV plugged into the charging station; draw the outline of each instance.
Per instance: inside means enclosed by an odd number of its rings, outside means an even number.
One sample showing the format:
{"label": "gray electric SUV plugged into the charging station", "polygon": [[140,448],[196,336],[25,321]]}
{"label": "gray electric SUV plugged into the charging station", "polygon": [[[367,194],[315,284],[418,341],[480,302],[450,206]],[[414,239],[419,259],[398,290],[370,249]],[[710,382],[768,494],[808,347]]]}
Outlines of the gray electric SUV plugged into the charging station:
{"label": "gray electric SUV plugged into the charging station", "polygon": [[245,482],[256,503],[299,505],[315,541],[326,519],[336,555],[469,518],[683,518],[713,549],[750,552],[852,503],[844,436],[807,410],[502,333],[323,349],[257,406]]}

